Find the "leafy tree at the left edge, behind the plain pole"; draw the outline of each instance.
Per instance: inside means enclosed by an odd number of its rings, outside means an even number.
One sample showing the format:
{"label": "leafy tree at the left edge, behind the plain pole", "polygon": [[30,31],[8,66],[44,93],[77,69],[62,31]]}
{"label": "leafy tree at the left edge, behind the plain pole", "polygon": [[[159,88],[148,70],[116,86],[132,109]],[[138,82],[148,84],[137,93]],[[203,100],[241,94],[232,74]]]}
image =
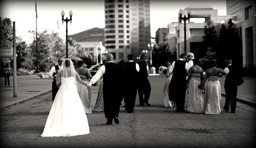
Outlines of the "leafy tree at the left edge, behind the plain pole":
{"label": "leafy tree at the left edge, behind the plain pole", "polygon": [[10,18],[0,17],[0,47],[13,46],[13,27]]}

